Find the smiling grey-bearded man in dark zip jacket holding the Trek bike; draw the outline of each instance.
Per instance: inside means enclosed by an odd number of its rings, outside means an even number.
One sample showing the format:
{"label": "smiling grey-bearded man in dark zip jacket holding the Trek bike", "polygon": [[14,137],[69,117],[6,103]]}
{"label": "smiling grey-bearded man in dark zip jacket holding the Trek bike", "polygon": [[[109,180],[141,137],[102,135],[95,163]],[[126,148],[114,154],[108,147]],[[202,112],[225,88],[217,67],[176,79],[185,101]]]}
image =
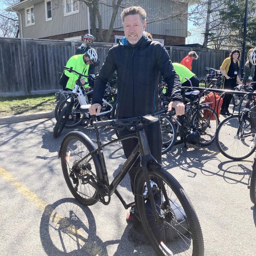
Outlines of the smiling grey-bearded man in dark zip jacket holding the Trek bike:
{"label": "smiling grey-bearded man in dark zip jacket holding the Trek bike", "polygon": [[[168,111],[174,107],[177,115],[184,114],[185,106],[182,103],[179,77],[175,73],[165,47],[147,38],[145,10],[139,6],[128,7],[122,11],[121,18],[125,37],[109,50],[99,75],[96,77],[90,114],[100,113],[106,83],[115,70],[117,70],[118,119],[137,117],[158,110],[159,72],[163,75],[168,86],[168,93],[173,100],[168,106]],[[150,152],[161,163],[160,122],[154,122],[144,128]],[[124,129],[118,133],[124,136],[131,132]],[[136,138],[122,141],[126,157],[129,157],[136,144]],[[140,165],[139,160],[129,171],[132,192],[134,192],[135,174]]]}

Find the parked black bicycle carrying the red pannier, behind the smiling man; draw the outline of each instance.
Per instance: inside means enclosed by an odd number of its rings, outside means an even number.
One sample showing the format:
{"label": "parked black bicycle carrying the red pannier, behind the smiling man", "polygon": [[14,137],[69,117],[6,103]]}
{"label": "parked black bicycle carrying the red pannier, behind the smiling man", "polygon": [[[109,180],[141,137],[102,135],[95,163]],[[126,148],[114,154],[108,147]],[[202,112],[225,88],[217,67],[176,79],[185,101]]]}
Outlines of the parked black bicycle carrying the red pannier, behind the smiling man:
{"label": "parked black bicycle carrying the red pannier, behind the smiling man", "polygon": [[[187,142],[208,146],[214,141],[219,123],[217,113],[209,107],[210,103],[199,103],[199,93],[199,90],[188,91],[182,88],[185,114],[161,120],[162,154],[167,153],[175,145],[177,136],[180,136],[180,142],[184,142],[185,147]],[[160,90],[161,108],[167,108],[169,102],[170,99]]]}

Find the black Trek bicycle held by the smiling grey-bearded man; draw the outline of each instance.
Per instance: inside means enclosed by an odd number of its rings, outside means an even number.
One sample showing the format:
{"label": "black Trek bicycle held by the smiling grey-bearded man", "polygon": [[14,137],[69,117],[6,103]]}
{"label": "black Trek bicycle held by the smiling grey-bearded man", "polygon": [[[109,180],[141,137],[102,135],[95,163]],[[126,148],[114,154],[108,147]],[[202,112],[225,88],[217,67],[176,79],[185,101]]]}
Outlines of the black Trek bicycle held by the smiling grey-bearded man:
{"label": "black Trek bicycle held by the smiling grey-bearded man", "polygon": [[[82,106],[87,112],[89,106]],[[191,202],[178,181],[157,163],[150,154],[143,125],[167,116],[166,110],[154,115],[95,122],[97,147],[82,132],[68,133],[61,143],[59,157],[65,181],[72,195],[84,205],[110,203],[113,193],[125,209],[136,203],[139,220],[157,255],[204,255],[203,236]],[[134,134],[101,144],[97,127],[115,129],[126,127]],[[105,128],[106,129],[106,128]],[[138,144],[114,177],[111,184],[107,175],[103,148],[128,138],[138,138]],[[125,174],[141,158],[135,178],[135,202],[126,203],[117,186]]]}

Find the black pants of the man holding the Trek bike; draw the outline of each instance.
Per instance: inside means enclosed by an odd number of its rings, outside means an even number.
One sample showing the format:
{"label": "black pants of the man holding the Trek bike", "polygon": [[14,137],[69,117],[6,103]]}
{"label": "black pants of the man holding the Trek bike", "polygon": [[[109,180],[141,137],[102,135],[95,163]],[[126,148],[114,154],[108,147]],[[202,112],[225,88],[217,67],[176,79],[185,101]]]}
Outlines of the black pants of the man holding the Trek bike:
{"label": "black pants of the man holding the Trek bike", "polygon": [[[123,119],[122,117],[118,117],[118,119]],[[154,122],[149,125],[144,126],[146,136],[147,136],[147,141],[149,143],[149,148],[152,156],[157,160],[158,163],[162,163],[162,134],[161,134],[161,127],[160,127],[160,122]],[[128,134],[134,133],[129,131],[127,128],[125,128],[122,131],[118,131],[118,134],[120,136],[125,136]],[[138,143],[137,138],[131,138],[131,139],[125,139],[122,141],[122,146],[124,149],[124,154],[125,157],[128,158],[130,154],[132,153],[132,150],[134,150],[135,146]],[[132,187],[132,193],[134,193],[134,180],[135,180],[135,175],[138,171],[138,168],[141,166],[141,159],[137,159],[132,168],[129,170],[129,176],[131,179],[131,187]]]}

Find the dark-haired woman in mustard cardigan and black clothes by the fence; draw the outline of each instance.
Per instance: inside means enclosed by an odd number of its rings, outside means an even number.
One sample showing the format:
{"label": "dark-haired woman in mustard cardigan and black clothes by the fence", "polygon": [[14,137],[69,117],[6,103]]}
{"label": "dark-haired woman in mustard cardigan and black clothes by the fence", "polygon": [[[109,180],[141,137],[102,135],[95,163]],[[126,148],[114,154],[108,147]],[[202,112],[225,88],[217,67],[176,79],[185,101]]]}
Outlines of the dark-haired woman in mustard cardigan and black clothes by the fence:
{"label": "dark-haired woman in mustard cardigan and black clothes by the fence", "polygon": [[[220,71],[225,77],[223,81],[223,89],[225,90],[234,90],[235,86],[237,86],[237,82],[239,83],[239,85],[242,84],[238,77],[239,57],[240,51],[237,49],[232,50],[230,56],[228,58],[225,58],[220,67]],[[231,99],[232,94],[225,93],[225,96],[223,97],[223,103],[221,106],[220,114],[230,115],[228,107],[231,102]]]}

